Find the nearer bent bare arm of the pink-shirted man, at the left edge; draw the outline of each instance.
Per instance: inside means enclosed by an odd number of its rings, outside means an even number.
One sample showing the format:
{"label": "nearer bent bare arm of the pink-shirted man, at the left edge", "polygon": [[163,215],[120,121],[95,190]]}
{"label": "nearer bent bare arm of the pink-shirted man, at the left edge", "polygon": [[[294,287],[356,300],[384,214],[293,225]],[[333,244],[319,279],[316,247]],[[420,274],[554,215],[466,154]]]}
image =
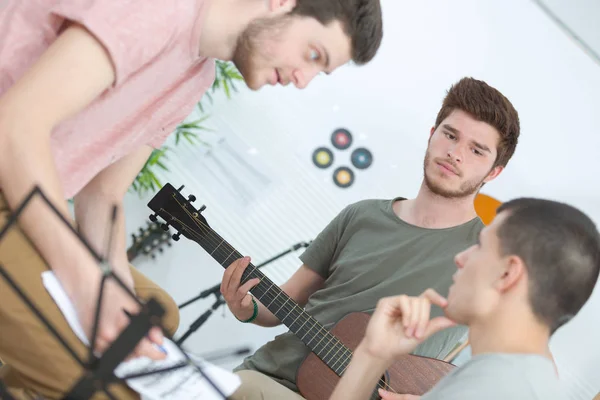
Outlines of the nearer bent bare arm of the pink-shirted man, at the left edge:
{"label": "nearer bent bare arm of the pink-shirted man, at the left edge", "polygon": [[[113,63],[105,48],[86,28],[70,24],[0,97],[0,187],[12,209],[37,185],[60,214],[71,220],[51,151],[51,132],[114,81]],[[91,336],[97,290],[90,288],[100,283],[96,260],[39,197],[29,203],[18,222],[58,277]],[[122,309],[132,306],[123,297],[106,299],[96,350],[114,339],[122,326]]]}

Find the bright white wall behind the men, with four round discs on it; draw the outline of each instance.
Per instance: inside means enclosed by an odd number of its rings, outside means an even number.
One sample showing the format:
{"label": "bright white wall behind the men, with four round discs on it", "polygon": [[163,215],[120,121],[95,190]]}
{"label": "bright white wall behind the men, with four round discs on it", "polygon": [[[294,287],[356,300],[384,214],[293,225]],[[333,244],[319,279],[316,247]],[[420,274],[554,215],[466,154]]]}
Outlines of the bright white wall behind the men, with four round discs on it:
{"label": "bright white wall behind the men, with four round discs on it", "polygon": [[[240,90],[231,100],[215,99],[208,120],[215,135],[223,135],[269,182],[244,172],[219,146],[215,157],[232,177],[226,178],[214,159],[187,147],[171,157],[171,173],[165,177],[175,186],[185,184],[186,193],[208,206],[209,223],[260,263],[312,239],[349,202],[414,196],[429,128],[446,89],[463,76],[474,76],[511,99],[522,126],[513,160],[485,193],[501,200],[539,196],[567,201],[600,223],[595,167],[600,69],[587,55],[528,1],[383,0],[383,10],[385,39],[368,66],[340,68],[304,91]],[[312,150],[327,145],[331,131],[341,126],[375,159],[345,190],[332,184],[331,169],[317,170],[310,161]],[[337,152],[335,165],[347,163],[348,156]],[[227,188],[236,177],[237,189]],[[238,196],[245,193],[245,203],[236,199],[235,190]],[[148,198],[128,196],[131,231],[145,223]],[[282,283],[299,265],[297,254],[273,263],[266,273]],[[222,275],[187,240],[157,260],[140,258],[135,264],[179,303],[220,282]],[[211,304],[212,299],[205,300],[182,310],[180,334]],[[596,290],[552,342],[572,399],[591,399],[600,391],[599,312]],[[238,345],[257,348],[283,331],[242,325],[219,311],[186,344],[199,353]]]}

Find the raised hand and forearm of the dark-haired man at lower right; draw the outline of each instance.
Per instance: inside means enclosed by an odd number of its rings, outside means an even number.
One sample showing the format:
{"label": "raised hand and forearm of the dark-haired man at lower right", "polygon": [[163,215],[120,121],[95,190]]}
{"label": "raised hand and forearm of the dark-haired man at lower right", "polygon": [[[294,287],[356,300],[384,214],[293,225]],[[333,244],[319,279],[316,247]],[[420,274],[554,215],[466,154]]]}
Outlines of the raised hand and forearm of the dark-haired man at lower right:
{"label": "raised hand and forearm of the dark-haired man at lower right", "polygon": [[[455,325],[446,317],[430,319],[432,305],[442,309],[447,305],[447,300],[432,289],[419,297],[400,295],[381,299],[330,400],[368,399],[394,360],[412,352],[434,333]],[[380,396],[390,400],[418,398],[381,391]]]}

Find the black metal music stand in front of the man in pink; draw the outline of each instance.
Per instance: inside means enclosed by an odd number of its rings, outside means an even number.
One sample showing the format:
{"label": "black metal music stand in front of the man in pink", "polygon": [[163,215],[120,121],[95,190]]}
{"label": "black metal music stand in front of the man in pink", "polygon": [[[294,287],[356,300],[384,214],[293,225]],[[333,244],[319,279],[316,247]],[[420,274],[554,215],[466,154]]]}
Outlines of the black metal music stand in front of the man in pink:
{"label": "black metal music stand in front of the man in pink", "polygon": [[[102,269],[102,279],[100,284],[100,291],[98,295],[98,302],[96,304],[96,313],[94,316],[94,325],[92,329],[92,338],[91,344],[89,346],[89,354],[88,360],[82,360],[75,352],[75,350],[69,346],[67,341],[58,333],[53,324],[48,321],[44,315],[41,313],[39,308],[33,303],[33,301],[25,294],[23,289],[14,281],[14,279],[9,274],[8,270],[4,268],[4,265],[0,262],[0,275],[2,278],[8,283],[8,285],[17,293],[20,299],[27,305],[27,307],[35,314],[35,316],[42,322],[42,324],[50,331],[52,336],[58,340],[60,345],[69,353],[69,355],[81,366],[83,372],[81,374],[80,379],[72,386],[68,393],[65,394],[63,399],[71,400],[71,399],[89,399],[98,391],[104,392],[106,396],[110,399],[115,399],[114,395],[109,390],[109,385],[119,382],[124,385],[127,385],[125,380],[133,379],[136,377],[149,376],[154,374],[160,374],[163,372],[173,371],[175,369],[193,366],[194,369],[199,372],[204,379],[213,387],[213,389],[223,398],[227,397],[224,395],[223,391],[207,376],[204,372],[203,368],[198,365],[194,360],[192,360],[188,354],[183,351],[183,349],[175,343],[175,346],[181,351],[184,355],[186,362],[182,362],[178,365],[149,371],[147,373],[141,373],[136,375],[129,375],[124,377],[117,377],[114,374],[115,368],[122,363],[125,358],[131,354],[131,352],[135,349],[138,342],[143,339],[149,332],[152,326],[160,326],[163,330],[165,337],[172,340],[172,337],[165,332],[164,327],[161,325],[161,318],[165,313],[164,307],[160,304],[158,300],[155,298],[150,298],[146,303],[142,303],[134,293],[132,293],[129,288],[119,279],[117,275],[112,272],[112,268],[109,264],[109,257],[101,257],[94,249],[90,246],[90,244],[85,240],[85,238],[77,232],[73,226],[69,223],[69,221],[58,211],[58,209],[52,204],[52,202],[47,198],[47,196],[42,192],[42,190],[35,186],[31,192],[26,196],[26,198],[16,207],[16,210],[10,214],[8,221],[6,224],[0,228],[0,242],[2,242],[4,236],[7,234],[9,229],[17,224],[17,220],[19,216],[23,213],[25,208],[29,205],[29,203],[36,197],[40,197],[44,203],[56,214],[56,216],[61,220],[65,226],[70,229],[71,233],[73,233],[79,241],[85,246],[85,248],[90,252],[90,254],[94,257],[94,259],[99,263]],[[113,215],[111,222],[114,223],[116,220],[117,207],[113,207]],[[111,225],[112,228],[112,225]],[[112,229],[111,229],[112,230]],[[110,248],[110,246],[108,246]],[[41,255],[40,255],[41,256]],[[45,260],[44,260],[45,261]],[[47,264],[47,263],[46,263]],[[116,340],[111,343],[108,349],[100,356],[97,357],[94,355],[93,348],[95,347],[95,339],[98,329],[99,315],[100,315],[100,305],[102,304],[102,295],[104,292],[104,286],[106,282],[112,279],[114,280],[118,286],[125,290],[125,292],[138,304],[141,311],[138,314],[132,315],[130,317],[130,323],[125,327],[125,329],[121,332],[121,334],[116,338]],[[3,382],[0,380],[0,394],[5,396],[6,398],[11,398],[7,392],[7,389]]]}

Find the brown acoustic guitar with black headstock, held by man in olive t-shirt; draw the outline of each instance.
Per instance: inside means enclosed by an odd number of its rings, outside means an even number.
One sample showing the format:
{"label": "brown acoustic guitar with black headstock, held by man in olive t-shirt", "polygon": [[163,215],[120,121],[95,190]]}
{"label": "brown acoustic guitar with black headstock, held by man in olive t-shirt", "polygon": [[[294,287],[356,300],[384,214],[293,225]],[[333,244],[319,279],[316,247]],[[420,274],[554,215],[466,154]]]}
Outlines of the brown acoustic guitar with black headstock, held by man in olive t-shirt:
{"label": "brown acoustic guitar with black headstock, held by man in olive t-shirt", "polygon": [[[181,190],[166,184],[148,203],[154,214],[150,220],[164,219],[163,229],[173,227],[180,236],[198,243],[221,266],[227,268],[242,255],[223,237],[217,234],[202,215],[206,208],[194,208],[194,195],[186,199]],[[331,331],[307,313],[281,288],[273,283],[253,264],[242,274],[242,283],[259,278],[250,292],[271,311],[291,332],[310,349],[311,353],[301,364],[296,385],[307,400],[325,400],[331,396],[340,377],[348,367],[355,349],[364,337],[369,314],[356,312],[342,318]],[[396,393],[422,395],[449,373],[455,366],[433,358],[406,355],[397,360],[382,376],[370,399],[379,399],[377,388]]]}

